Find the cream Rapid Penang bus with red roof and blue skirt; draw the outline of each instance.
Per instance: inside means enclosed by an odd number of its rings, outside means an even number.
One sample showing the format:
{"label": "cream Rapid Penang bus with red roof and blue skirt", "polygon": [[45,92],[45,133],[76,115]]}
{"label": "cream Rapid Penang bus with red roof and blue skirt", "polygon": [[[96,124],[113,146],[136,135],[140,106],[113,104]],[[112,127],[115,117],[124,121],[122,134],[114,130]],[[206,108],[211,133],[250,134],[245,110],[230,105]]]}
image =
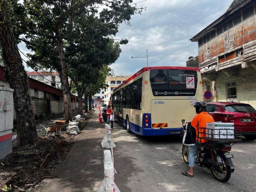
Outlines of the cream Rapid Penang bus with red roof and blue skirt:
{"label": "cream Rapid Penang bus with red roof and blue skirt", "polygon": [[142,136],[183,135],[181,119],[196,115],[203,100],[199,68],[144,67],[112,94],[115,121]]}

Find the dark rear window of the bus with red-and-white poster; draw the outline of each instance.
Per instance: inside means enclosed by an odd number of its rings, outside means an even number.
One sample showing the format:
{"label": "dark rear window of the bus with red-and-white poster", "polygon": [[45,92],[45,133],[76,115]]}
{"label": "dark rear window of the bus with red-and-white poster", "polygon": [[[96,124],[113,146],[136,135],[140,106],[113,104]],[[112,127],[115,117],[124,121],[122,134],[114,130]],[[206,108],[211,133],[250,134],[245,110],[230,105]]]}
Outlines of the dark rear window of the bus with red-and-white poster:
{"label": "dark rear window of the bus with red-and-white poster", "polygon": [[150,84],[154,96],[195,96],[197,72],[191,70],[150,70]]}

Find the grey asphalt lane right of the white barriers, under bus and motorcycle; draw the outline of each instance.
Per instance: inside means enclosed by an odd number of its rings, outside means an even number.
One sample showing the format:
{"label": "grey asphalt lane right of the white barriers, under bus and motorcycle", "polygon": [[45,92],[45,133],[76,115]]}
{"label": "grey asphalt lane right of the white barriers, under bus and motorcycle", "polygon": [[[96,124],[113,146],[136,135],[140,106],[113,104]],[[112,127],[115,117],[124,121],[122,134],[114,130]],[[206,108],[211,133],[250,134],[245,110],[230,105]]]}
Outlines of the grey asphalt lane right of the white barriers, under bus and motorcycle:
{"label": "grey asphalt lane right of the white barriers, under bus and motorcycle", "polygon": [[145,138],[127,133],[119,124],[114,125],[112,138],[117,146],[115,181],[122,192],[256,191],[256,141],[243,139],[232,146],[235,171],[228,182],[221,183],[197,165],[193,178],[181,175],[187,169],[181,138]]}

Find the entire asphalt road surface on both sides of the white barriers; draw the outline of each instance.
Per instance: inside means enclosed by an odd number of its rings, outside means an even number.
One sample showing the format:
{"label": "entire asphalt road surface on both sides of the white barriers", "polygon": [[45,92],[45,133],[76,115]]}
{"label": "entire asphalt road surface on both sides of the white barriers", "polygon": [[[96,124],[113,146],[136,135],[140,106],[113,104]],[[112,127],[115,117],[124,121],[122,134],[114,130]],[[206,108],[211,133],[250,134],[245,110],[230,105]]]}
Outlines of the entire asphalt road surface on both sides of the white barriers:
{"label": "entire asphalt road surface on both sides of the white barriers", "polygon": [[[78,135],[64,162],[45,179],[39,191],[92,192],[97,191],[104,178],[104,124],[95,114]],[[194,177],[181,175],[187,164],[182,158],[179,137],[145,138],[129,134],[114,123],[112,140],[116,144],[114,167],[118,172],[115,183],[121,192],[201,192],[201,191],[256,191],[256,141],[244,139],[232,146],[234,173],[226,183],[214,179],[206,168],[196,166]]]}

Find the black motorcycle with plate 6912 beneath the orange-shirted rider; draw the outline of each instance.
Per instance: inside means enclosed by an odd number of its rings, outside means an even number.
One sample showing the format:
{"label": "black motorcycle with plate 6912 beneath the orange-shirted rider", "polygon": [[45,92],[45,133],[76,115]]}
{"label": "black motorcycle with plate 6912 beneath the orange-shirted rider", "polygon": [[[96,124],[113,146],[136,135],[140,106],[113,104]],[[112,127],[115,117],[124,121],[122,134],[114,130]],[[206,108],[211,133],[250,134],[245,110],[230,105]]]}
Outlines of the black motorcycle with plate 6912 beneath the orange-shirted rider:
{"label": "black motorcycle with plate 6912 beneath the orange-shirted rider", "polygon": [[[201,143],[198,147],[195,163],[200,167],[210,169],[218,181],[227,182],[231,173],[234,172],[234,165],[231,160],[234,156],[230,152],[231,148],[231,142],[210,141]],[[191,146],[182,146],[182,156],[187,164],[190,149]]]}

